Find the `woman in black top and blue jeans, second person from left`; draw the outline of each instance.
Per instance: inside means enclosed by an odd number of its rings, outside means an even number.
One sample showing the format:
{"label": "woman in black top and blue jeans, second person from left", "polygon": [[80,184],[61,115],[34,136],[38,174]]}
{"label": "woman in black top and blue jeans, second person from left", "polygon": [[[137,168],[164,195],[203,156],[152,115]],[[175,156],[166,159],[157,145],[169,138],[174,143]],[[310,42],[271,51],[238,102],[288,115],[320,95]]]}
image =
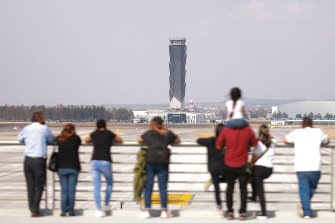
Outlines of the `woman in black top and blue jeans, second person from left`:
{"label": "woman in black top and blue jeans, second person from left", "polygon": [[60,216],[74,216],[74,194],[80,171],[78,149],[81,140],[75,134],[74,125],[67,124],[57,137],[59,150],[58,176],[61,186]]}

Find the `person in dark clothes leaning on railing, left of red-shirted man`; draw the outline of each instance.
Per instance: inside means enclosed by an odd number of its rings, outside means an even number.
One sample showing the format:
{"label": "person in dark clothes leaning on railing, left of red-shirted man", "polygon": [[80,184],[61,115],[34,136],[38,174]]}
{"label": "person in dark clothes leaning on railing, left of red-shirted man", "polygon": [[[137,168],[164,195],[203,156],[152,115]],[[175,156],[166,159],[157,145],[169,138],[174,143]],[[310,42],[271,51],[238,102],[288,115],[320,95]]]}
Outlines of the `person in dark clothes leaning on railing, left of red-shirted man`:
{"label": "person in dark clothes leaning on railing, left of red-shirted man", "polygon": [[197,140],[198,144],[207,147],[207,159],[208,159],[208,171],[211,173],[212,179],[205,184],[205,190],[208,189],[211,183],[214,184],[215,188],[215,199],[219,211],[219,216],[223,216],[223,209],[221,205],[220,198],[220,187],[219,183],[227,182],[225,176],[225,164],[224,164],[224,152],[222,150],[217,150],[215,148],[216,138],[219,136],[221,130],[223,129],[223,124],[218,124],[215,127],[215,137],[211,138],[199,138]]}

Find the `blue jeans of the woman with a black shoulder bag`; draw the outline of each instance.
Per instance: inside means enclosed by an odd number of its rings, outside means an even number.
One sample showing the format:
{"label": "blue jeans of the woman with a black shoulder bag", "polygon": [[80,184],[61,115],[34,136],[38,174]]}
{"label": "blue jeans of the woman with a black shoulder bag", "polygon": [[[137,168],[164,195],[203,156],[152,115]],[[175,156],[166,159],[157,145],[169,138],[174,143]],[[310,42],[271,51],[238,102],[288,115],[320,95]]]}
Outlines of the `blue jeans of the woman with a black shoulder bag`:
{"label": "blue jeans of the woman with a black shoulder bag", "polygon": [[61,186],[61,212],[73,214],[74,193],[79,171],[72,168],[59,168],[57,173]]}

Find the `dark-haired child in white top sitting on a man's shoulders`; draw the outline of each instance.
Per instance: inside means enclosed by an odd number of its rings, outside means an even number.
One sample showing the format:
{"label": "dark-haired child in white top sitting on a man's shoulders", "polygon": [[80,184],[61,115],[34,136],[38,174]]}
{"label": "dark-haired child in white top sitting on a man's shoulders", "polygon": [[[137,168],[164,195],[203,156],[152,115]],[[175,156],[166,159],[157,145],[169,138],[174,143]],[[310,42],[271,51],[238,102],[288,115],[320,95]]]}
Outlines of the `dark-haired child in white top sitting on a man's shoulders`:
{"label": "dark-haired child in white top sitting on a man's shoulders", "polygon": [[231,99],[225,104],[227,114],[227,124],[225,127],[229,128],[244,128],[248,126],[248,122],[244,119],[245,115],[245,104],[240,99],[241,90],[238,87],[234,87],[230,91]]}

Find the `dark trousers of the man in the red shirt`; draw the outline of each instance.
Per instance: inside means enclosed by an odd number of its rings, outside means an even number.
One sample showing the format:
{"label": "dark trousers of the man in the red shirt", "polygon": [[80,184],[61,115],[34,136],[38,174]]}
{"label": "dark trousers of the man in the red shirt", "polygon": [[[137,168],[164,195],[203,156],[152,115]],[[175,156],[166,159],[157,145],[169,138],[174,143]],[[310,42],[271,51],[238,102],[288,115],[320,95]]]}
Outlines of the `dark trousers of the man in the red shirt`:
{"label": "dark trousers of the man in the red shirt", "polygon": [[227,167],[226,176],[227,176],[227,183],[228,183],[227,193],[226,193],[228,212],[234,211],[233,210],[233,192],[234,192],[235,179],[238,178],[240,182],[240,191],[241,191],[240,213],[246,213],[248,175],[245,170],[245,167],[240,167],[240,168]]}

